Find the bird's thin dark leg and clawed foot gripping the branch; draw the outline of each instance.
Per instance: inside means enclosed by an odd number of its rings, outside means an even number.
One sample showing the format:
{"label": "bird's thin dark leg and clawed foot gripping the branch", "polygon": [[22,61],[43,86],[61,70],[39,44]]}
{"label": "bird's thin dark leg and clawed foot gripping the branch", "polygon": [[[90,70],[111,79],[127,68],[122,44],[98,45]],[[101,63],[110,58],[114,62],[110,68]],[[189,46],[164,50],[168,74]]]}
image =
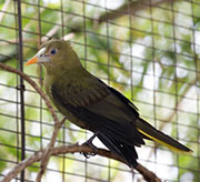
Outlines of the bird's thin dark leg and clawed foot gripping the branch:
{"label": "bird's thin dark leg and clawed foot gripping the branch", "polygon": [[87,159],[89,159],[90,156],[94,156],[98,153],[98,148],[92,143],[93,139],[98,135],[98,133],[94,133],[89,140],[87,140],[84,143],[82,143],[82,145],[87,145],[90,146],[93,152],[81,152],[81,154],[83,154]]}

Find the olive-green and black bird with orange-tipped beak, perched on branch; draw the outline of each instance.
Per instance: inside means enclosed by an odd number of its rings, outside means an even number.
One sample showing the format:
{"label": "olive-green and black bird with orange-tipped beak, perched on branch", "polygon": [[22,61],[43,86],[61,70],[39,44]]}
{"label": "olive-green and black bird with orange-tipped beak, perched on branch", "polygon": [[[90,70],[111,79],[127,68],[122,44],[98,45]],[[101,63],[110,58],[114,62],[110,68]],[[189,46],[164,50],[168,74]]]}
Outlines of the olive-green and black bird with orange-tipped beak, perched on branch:
{"label": "olive-green and black bird with orange-tipped beak, perched on branch", "polygon": [[44,67],[44,91],[54,107],[73,124],[93,132],[86,144],[96,148],[92,140],[98,138],[130,168],[138,166],[136,146],[144,140],[192,152],[142,119],[121,92],[87,71],[69,41],[48,40],[26,65],[33,63]]}

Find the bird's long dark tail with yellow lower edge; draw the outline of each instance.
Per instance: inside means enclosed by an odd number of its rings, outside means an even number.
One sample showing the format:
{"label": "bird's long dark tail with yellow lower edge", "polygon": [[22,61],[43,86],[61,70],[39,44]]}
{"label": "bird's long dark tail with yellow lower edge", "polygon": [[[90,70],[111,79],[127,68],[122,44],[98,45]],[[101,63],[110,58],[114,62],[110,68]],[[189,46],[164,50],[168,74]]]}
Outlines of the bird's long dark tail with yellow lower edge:
{"label": "bird's long dark tail with yellow lower edge", "polygon": [[183,144],[179,143],[178,141],[173,140],[169,135],[154,129],[151,124],[149,124],[147,121],[144,121],[141,118],[137,120],[136,127],[137,127],[138,131],[140,133],[142,133],[143,135],[168,146],[172,151],[192,152],[190,149],[188,149]]}

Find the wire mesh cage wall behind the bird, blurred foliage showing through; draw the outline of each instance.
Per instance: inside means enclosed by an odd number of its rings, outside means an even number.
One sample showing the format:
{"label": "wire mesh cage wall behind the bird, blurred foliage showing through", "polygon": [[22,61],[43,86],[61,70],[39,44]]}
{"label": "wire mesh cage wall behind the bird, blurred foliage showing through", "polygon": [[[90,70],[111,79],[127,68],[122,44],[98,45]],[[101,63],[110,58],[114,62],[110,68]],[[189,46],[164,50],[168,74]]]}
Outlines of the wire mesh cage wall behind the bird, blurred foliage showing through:
{"label": "wire mesh cage wall behind the bird, blurred foliage showing through", "polygon": [[[177,154],[147,141],[139,162],[161,180],[200,181],[199,0],[0,0],[0,62],[43,88],[43,70],[23,63],[49,38],[70,40],[84,68],[121,91],[142,118],[193,150]],[[47,146],[53,119],[22,78],[0,71],[0,179]],[[24,89],[23,89],[24,84]],[[60,115],[60,119],[62,117]],[[90,132],[66,122],[56,145]],[[94,144],[103,146],[100,141]],[[33,163],[14,181],[34,181]],[[79,153],[51,156],[43,181],[143,181],[126,164]]]}

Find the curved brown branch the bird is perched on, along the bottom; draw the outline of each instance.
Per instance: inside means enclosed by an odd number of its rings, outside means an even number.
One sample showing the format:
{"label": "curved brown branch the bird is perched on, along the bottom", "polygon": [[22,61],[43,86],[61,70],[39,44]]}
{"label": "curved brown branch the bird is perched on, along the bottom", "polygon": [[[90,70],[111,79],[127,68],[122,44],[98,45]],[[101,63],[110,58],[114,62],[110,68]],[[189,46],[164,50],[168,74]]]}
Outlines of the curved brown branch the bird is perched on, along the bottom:
{"label": "curved brown branch the bird is perched on, along the bottom", "polygon": [[[8,172],[8,174],[1,180],[1,182],[10,182],[22,170],[30,166],[34,162],[40,161],[43,156],[43,152],[44,152],[44,150],[37,151],[30,158],[26,159],[24,161],[21,161],[12,170],[10,170]],[[53,148],[50,151],[50,155],[59,155],[59,154],[67,154],[67,153],[80,153],[80,152],[92,153],[94,151],[92,148],[90,148],[88,145],[72,144],[72,145]],[[98,149],[98,154],[101,156],[106,156],[106,158],[113,159],[113,160],[126,163],[120,156],[118,156],[117,154],[114,154],[108,150],[104,150],[104,149]],[[148,182],[161,182],[161,180],[153,172],[149,171],[141,164],[138,164],[136,170],[139,173],[141,173],[143,179],[147,180]]]}

